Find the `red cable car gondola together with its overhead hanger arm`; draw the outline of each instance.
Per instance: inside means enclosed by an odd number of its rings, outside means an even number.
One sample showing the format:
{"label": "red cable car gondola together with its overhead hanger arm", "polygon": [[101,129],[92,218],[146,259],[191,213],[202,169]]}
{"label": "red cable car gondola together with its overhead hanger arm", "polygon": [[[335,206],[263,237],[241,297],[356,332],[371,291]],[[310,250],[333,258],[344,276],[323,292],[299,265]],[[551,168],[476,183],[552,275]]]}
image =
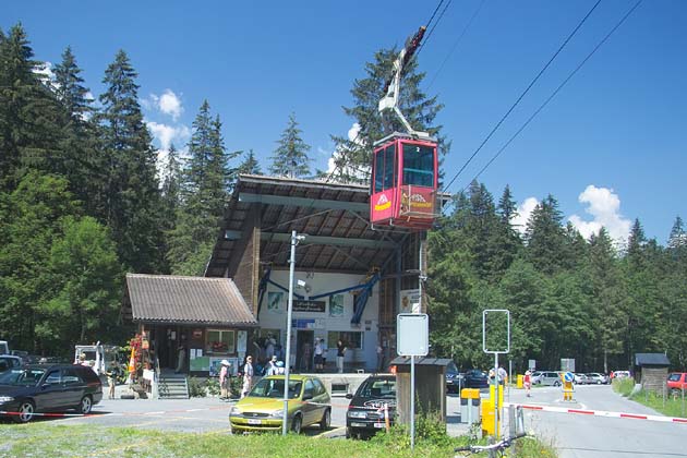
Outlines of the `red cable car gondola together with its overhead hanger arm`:
{"label": "red cable car gondola together with its overhead hanger arm", "polygon": [[370,190],[372,225],[400,226],[414,230],[432,227],[436,219],[438,185],[437,142],[426,132],[412,129],[398,108],[403,68],[418,49],[425,27],[406,41],[394,61],[394,76],[378,111],[393,110],[408,133],[394,132],[374,144]]}

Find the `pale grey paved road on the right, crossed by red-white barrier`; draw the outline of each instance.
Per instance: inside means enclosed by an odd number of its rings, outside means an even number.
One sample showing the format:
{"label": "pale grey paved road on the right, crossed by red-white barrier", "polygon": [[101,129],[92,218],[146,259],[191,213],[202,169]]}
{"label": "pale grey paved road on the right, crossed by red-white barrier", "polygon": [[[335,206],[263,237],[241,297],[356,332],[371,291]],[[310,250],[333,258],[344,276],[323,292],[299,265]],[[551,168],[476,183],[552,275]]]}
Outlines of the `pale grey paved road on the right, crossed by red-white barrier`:
{"label": "pale grey paved road on the right, crossed by red-white barrier", "polygon": [[[578,386],[575,402],[564,402],[559,388],[532,390],[526,398],[510,391],[511,402],[561,408],[659,414],[615,394],[611,386]],[[571,413],[525,411],[526,429],[559,450],[561,458],[687,457],[687,424],[605,418]]]}

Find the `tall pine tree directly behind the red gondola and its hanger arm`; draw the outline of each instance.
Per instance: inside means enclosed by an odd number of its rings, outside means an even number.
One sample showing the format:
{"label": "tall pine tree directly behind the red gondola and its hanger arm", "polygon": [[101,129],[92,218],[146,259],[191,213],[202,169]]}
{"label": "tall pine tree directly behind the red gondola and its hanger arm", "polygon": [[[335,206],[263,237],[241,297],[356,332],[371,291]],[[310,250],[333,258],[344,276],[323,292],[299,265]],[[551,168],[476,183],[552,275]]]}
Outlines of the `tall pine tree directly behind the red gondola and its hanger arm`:
{"label": "tall pine tree directly behind the red gondola and its hanger arm", "polygon": [[[337,181],[365,182],[370,179],[374,142],[393,133],[405,132],[405,128],[394,116],[377,112],[379,99],[385,95],[385,83],[393,76],[393,64],[398,50],[382,49],[374,55],[374,60],[365,64],[365,77],[355,80],[351,95],[353,107],[343,107],[343,112],[353,118],[360,131],[353,140],[333,135],[336,144],[334,162],[336,169],[332,177]],[[439,154],[443,157],[450,149],[450,143],[441,135],[442,125],[434,125],[436,114],[444,107],[436,96],[427,97],[420,89],[425,73],[418,72],[418,60],[409,62],[401,79],[398,105],[413,129],[429,132],[439,141]]]}

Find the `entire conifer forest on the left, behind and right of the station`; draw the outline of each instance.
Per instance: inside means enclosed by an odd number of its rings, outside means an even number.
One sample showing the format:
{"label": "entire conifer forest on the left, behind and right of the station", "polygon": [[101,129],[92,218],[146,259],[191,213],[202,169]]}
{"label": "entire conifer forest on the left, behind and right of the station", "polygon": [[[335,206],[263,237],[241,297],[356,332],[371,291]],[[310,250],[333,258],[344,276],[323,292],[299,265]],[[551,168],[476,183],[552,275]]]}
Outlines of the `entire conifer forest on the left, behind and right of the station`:
{"label": "entire conifer forest on the left, behind and right of the station", "polygon": [[[353,141],[334,137],[337,180],[360,181],[371,144],[363,140],[384,132],[372,113],[393,56],[379,51],[369,77],[355,81],[357,106],[345,111],[362,129]],[[126,52],[103,70],[98,104],[69,47],[52,79],[41,67],[21,25],[0,31],[0,339],[65,355],[76,342],[130,337],[120,320],[126,272],[203,275],[238,174],[308,176],[310,146],[292,113],[273,164],[261,167],[253,150],[228,153],[221,119],[206,100],[188,145],[177,145],[185,154],[172,145],[160,165]],[[426,125],[442,106],[419,91],[422,77],[409,72],[406,109],[446,154],[441,126]],[[687,236],[679,217],[665,221],[666,245],[647,240],[635,220],[620,246],[605,230],[584,240],[552,195],[527,227],[514,227],[516,214],[508,186],[495,200],[473,182],[430,232],[435,354],[463,367],[491,364],[482,352],[482,310],[508,309],[506,359],[517,369],[529,359],[556,369],[561,358],[575,358],[578,370],[605,372],[627,369],[636,352],[666,352],[675,369],[686,369]]]}

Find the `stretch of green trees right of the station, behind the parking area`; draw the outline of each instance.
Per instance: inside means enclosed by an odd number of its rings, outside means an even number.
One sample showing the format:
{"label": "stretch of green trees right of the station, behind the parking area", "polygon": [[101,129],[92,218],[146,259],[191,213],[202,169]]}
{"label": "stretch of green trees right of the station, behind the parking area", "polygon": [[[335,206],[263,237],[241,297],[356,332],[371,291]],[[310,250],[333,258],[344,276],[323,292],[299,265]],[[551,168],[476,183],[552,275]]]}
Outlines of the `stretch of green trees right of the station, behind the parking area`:
{"label": "stretch of green trees right of the station, behind the parking area", "polygon": [[529,360],[558,370],[574,358],[579,371],[627,370],[635,353],[665,352],[687,366],[687,234],[678,216],[667,246],[648,240],[635,220],[623,245],[602,228],[584,240],[565,224],[549,195],[523,231],[509,186],[498,202],[472,182],[429,236],[429,313],[437,354],[465,367],[486,367],[482,311],[511,316],[514,367]]}

